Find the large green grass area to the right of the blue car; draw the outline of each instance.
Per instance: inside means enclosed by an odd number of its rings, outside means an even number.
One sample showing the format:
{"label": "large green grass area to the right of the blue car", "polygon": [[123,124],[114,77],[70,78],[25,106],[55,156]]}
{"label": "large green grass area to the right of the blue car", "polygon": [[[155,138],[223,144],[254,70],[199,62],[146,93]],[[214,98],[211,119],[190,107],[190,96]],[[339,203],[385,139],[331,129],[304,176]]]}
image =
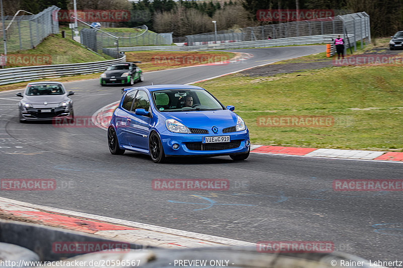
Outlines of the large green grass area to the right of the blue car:
{"label": "large green grass area to the right of the blue car", "polygon": [[[234,105],[253,144],[403,151],[403,70],[330,67],[272,77],[232,74],[197,83]],[[329,127],[273,127],[267,116],[331,116]]]}

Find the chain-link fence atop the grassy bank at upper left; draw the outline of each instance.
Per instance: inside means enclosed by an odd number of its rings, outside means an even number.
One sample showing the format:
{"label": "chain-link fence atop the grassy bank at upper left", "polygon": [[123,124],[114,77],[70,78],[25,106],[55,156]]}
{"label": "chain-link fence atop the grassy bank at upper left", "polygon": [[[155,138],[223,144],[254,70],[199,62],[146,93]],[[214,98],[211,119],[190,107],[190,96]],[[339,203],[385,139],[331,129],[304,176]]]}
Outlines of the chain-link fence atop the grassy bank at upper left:
{"label": "chain-link fence atop the grassy bank at upper left", "polygon": [[[51,6],[36,15],[5,16],[7,51],[34,48],[48,35],[57,34],[59,32],[57,11],[59,10]],[[2,27],[0,27],[0,35],[3,37]],[[0,53],[4,53],[3,45],[0,46]]]}

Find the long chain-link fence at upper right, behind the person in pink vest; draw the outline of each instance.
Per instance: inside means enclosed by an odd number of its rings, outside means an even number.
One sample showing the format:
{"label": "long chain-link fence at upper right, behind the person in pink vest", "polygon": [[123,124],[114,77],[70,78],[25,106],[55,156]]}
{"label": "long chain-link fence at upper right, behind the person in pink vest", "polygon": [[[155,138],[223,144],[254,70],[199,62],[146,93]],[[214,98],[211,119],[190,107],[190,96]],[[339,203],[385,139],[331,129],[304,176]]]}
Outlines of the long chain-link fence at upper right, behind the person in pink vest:
{"label": "long chain-link fence at upper right, behind the person in pink vest", "polygon": [[217,33],[187,35],[186,42],[188,46],[195,46],[328,34],[344,34],[345,36],[352,34],[354,35],[353,38],[350,38],[352,40],[346,40],[351,45],[363,38],[367,38],[370,41],[369,16],[365,12],[362,12],[324,19],[247,27],[218,31]]}

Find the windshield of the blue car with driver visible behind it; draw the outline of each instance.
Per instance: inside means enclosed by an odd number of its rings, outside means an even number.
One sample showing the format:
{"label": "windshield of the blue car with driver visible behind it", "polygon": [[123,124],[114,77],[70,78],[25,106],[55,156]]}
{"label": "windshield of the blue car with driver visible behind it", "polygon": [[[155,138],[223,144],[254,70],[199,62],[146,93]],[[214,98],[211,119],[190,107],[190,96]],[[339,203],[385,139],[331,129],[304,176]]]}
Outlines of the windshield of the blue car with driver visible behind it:
{"label": "windshield of the blue car with driver visible behind it", "polygon": [[207,91],[172,89],[153,92],[154,103],[161,112],[214,111],[225,108]]}

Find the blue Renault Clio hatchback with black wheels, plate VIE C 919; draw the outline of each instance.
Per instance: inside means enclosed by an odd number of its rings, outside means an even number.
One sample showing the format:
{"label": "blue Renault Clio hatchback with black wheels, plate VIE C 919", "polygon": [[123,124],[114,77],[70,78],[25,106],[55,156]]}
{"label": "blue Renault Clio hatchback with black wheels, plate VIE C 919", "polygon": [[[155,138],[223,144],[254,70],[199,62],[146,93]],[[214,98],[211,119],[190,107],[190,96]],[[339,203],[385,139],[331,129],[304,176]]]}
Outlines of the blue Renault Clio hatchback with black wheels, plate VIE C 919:
{"label": "blue Renault Clio hatchback with black wheels, plate VIE C 919", "polygon": [[156,163],[173,156],[249,156],[249,131],[234,106],[224,107],[204,88],[164,84],[122,89],[108,127],[112,154],[149,154]]}

